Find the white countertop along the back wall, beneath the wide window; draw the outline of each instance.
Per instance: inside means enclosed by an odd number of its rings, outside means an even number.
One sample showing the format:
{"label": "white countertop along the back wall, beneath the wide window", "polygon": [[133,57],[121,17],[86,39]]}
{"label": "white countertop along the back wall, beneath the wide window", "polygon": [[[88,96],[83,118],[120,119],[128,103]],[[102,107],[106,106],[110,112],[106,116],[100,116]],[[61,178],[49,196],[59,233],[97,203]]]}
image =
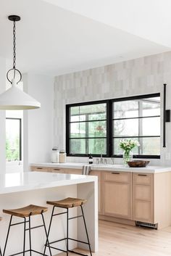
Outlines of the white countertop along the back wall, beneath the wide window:
{"label": "white countertop along the back wall, beneath the wide window", "polygon": [[[32,163],[31,166],[49,167],[49,168],[68,168],[68,169],[82,169],[84,165],[88,165],[83,162],[66,162],[66,163],[51,163],[51,162],[40,162]],[[91,165],[91,170],[109,170],[109,171],[123,171],[131,173],[164,173],[171,171],[171,166],[150,166],[147,165],[145,168],[130,168],[124,165]]]}

